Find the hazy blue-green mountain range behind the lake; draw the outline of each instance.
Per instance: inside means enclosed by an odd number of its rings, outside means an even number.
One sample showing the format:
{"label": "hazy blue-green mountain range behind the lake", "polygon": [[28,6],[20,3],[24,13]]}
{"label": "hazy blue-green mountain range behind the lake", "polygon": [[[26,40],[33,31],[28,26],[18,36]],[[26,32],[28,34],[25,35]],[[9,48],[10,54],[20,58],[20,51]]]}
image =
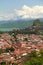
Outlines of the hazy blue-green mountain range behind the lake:
{"label": "hazy blue-green mountain range behind the lake", "polygon": [[0,23],[0,28],[26,28],[31,26],[33,23],[32,20],[10,20],[3,23]]}

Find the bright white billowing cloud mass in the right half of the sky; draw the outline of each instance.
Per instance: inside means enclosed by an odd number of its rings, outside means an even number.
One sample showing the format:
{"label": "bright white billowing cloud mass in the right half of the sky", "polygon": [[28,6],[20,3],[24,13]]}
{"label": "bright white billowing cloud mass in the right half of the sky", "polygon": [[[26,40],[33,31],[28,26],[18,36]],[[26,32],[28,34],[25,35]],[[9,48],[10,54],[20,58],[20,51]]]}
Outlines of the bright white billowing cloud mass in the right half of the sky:
{"label": "bright white billowing cloud mass in the right half of the sky", "polygon": [[40,18],[43,17],[43,6],[28,7],[24,5],[21,10],[16,10],[16,14],[23,18]]}

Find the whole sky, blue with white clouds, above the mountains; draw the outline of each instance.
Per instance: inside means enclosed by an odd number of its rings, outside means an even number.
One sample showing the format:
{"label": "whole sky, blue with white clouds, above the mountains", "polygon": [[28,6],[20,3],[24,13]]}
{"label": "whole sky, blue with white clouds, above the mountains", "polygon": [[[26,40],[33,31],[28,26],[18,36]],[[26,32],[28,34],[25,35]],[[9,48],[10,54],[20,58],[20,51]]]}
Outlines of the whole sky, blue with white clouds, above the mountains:
{"label": "whole sky, blue with white clouds, above the mountains", "polygon": [[43,0],[0,0],[0,20],[43,18]]}

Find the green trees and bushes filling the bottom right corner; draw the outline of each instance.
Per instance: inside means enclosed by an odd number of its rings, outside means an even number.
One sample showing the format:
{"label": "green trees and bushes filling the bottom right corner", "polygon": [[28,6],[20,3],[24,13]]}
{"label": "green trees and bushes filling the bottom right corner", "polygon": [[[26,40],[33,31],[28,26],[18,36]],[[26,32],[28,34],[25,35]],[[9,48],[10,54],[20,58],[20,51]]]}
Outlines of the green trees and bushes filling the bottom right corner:
{"label": "green trees and bushes filling the bottom right corner", "polygon": [[[31,56],[30,56],[31,55]],[[32,51],[26,58],[23,65],[43,65],[43,49],[40,50],[40,56],[36,51]]]}

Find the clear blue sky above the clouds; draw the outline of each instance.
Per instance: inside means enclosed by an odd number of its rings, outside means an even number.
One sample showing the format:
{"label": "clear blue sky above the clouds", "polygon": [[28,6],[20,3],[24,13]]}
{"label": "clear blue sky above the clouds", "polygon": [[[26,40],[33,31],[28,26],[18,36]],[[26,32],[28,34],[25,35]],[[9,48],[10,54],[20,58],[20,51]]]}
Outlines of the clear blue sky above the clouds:
{"label": "clear blue sky above the clouds", "polygon": [[43,0],[0,0],[0,14],[13,12],[14,9],[21,10],[22,7],[43,6]]}

